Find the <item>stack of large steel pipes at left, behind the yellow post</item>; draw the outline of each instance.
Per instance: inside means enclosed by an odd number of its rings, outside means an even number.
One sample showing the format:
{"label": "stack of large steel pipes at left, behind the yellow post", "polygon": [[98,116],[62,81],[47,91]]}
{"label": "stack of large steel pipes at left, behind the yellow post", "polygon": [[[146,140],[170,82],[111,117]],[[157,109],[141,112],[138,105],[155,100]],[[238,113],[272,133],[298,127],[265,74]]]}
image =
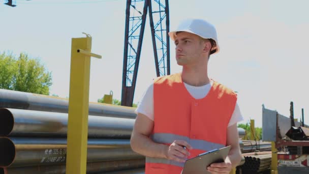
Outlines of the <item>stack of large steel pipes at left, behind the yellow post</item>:
{"label": "stack of large steel pipes at left, behind the yellow post", "polygon": [[[0,174],[65,173],[68,100],[0,90],[0,108]],[[134,109],[89,103],[89,113],[87,173],[143,168],[130,148]]]}

